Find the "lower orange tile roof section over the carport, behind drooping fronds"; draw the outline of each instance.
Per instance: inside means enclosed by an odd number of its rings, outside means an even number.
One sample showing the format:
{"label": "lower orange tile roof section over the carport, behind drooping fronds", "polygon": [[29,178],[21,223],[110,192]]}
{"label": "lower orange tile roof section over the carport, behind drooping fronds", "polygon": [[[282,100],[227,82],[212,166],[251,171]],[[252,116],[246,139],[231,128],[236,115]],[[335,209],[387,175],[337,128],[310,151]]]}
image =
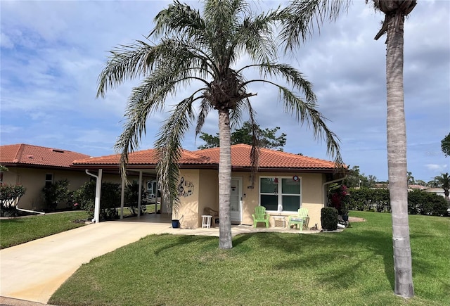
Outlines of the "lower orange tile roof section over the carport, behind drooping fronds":
{"label": "lower orange tile roof section over the carport, behind drooping fronds", "polygon": [[[75,160],[74,165],[118,165],[120,160],[119,154],[106,155],[98,158],[88,158],[83,160]],[[129,165],[156,165],[158,163],[158,155],[155,149],[136,151],[128,156]],[[179,163],[182,165],[203,165],[211,164],[210,159],[200,156],[194,152],[183,150]]]}

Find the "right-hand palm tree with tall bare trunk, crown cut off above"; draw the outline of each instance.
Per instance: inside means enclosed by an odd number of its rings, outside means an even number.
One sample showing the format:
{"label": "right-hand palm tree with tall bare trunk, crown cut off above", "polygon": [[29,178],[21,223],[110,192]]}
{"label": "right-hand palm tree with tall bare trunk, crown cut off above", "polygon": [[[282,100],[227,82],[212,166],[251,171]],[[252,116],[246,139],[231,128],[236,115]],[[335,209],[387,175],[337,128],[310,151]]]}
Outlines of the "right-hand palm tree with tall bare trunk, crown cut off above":
{"label": "right-hand palm tree with tall bare trunk, crown cut off above", "polygon": [[[368,2],[368,0],[366,0]],[[375,35],[387,33],[387,168],[392,206],[394,247],[394,293],[404,298],[414,295],[408,222],[408,180],[406,167],[406,125],[404,115],[403,50],[404,17],[416,6],[416,0],[373,0],[385,21]],[[346,10],[345,0],[293,0],[283,12],[285,27],[281,34],[288,48],[304,42],[324,20],[335,20]]]}

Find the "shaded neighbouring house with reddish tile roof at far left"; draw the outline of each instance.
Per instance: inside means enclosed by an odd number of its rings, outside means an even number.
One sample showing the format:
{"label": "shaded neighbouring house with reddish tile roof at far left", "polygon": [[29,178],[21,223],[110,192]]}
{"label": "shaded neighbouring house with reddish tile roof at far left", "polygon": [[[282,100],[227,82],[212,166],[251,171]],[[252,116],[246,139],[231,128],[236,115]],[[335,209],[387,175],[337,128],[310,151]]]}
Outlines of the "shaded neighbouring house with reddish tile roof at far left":
{"label": "shaded neighbouring house with reddish tile roof at far left", "polygon": [[8,168],[0,174],[1,184],[20,184],[27,188],[19,208],[44,210],[44,186],[68,179],[69,190],[75,191],[90,179],[84,170],[70,167],[74,160],[84,158],[89,155],[30,144],[0,146],[0,165]]}

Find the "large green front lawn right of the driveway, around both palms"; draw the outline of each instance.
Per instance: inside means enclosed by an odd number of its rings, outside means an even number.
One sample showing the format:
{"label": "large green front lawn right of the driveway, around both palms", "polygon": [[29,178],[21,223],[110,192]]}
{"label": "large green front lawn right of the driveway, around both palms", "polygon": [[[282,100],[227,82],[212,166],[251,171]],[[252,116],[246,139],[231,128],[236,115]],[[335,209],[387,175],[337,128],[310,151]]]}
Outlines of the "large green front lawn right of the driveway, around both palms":
{"label": "large green front lawn right of the driveway, around both palms", "polygon": [[341,233],[148,236],[80,267],[52,305],[450,305],[450,219],[411,216],[416,297],[393,294],[391,216]]}

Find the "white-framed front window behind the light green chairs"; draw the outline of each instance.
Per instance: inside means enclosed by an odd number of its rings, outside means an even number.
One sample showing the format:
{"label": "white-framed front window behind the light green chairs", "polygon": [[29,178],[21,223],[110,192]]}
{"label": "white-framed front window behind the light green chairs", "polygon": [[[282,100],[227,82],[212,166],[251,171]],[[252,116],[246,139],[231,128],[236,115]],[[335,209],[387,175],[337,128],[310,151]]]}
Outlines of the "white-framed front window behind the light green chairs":
{"label": "white-framed front window behind the light green chairs", "polygon": [[259,203],[266,210],[296,212],[302,207],[302,184],[298,177],[260,177]]}

